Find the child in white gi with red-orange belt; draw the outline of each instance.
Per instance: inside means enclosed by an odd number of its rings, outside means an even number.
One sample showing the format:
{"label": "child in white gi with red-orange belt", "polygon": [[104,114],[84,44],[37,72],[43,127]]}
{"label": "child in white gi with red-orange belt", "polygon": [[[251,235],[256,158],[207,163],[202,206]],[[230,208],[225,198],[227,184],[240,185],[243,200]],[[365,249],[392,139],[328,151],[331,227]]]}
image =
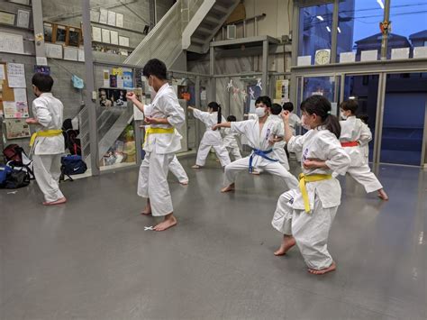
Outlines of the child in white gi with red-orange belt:
{"label": "child in white gi with red-orange belt", "polygon": [[356,118],[355,114],[358,107],[358,103],[354,100],[344,101],[340,105],[341,118],[347,119],[340,121],[341,146],[344,147],[351,159],[347,173],[365,187],[367,193],[377,191],[379,198],[388,200],[386,191],[384,191],[375,174],[370,171],[366,161],[364,148],[372,140],[372,133],[365,123]]}

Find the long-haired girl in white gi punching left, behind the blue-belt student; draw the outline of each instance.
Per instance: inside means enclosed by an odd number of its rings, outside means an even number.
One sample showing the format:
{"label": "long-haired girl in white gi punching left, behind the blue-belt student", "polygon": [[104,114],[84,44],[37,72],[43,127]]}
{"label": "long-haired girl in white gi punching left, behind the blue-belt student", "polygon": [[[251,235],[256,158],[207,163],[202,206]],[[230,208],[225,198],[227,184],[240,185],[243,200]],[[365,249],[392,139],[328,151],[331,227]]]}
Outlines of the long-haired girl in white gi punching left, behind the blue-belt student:
{"label": "long-haired girl in white gi punching left, behind the blue-belt student", "polygon": [[231,162],[227,149],[223,144],[223,137],[219,130],[213,130],[212,126],[215,123],[224,123],[225,119],[221,114],[221,106],[216,102],[211,102],[207,105],[207,112],[200,111],[193,106],[188,106],[188,110],[193,111],[196,119],[199,119],[206,126],[202,141],[200,142],[199,150],[197,151],[197,159],[195,165],[191,168],[200,169],[204,167],[207,155],[211,148],[216,153],[216,156],[221,162],[221,166],[225,167]]}

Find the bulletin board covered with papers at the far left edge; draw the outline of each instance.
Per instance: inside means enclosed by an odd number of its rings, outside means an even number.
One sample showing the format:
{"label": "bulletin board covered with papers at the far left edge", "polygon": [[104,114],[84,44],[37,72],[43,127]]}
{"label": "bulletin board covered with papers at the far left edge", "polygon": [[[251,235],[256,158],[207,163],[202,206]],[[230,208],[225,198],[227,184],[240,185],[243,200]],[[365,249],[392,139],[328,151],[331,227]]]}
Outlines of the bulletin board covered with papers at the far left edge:
{"label": "bulletin board covered with papers at the far left edge", "polygon": [[0,62],[0,116],[7,139],[31,136],[25,123],[29,110],[23,64]]}

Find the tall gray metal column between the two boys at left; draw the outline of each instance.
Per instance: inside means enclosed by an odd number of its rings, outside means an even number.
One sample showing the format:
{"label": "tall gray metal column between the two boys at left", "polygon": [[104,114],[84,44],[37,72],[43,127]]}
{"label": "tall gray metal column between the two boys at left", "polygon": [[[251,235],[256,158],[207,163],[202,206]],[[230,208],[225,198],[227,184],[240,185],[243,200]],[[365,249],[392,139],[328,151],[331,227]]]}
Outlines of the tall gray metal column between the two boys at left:
{"label": "tall gray metal column between the two boys at left", "polygon": [[98,132],[96,128],[95,111],[95,79],[94,79],[94,58],[92,55],[92,39],[90,24],[90,4],[87,0],[81,1],[82,19],[83,19],[83,46],[85,50],[85,105],[89,114],[89,143],[90,143],[90,163],[92,176],[99,176],[99,158],[98,158]]}

